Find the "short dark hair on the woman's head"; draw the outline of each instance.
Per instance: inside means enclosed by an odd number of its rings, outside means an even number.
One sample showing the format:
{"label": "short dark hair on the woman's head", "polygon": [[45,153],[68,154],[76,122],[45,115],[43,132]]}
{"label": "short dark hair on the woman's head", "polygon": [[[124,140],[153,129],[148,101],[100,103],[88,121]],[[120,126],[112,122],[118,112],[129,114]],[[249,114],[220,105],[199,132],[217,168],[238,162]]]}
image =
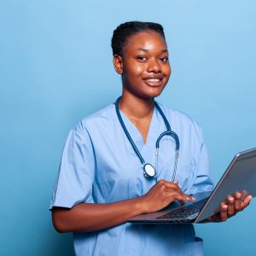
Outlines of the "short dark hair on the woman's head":
{"label": "short dark hair on the woman's head", "polygon": [[111,39],[111,47],[113,55],[122,55],[123,49],[128,42],[128,38],[139,32],[154,31],[158,32],[165,40],[165,32],[163,26],[153,22],[129,21],[120,24],[114,31]]}

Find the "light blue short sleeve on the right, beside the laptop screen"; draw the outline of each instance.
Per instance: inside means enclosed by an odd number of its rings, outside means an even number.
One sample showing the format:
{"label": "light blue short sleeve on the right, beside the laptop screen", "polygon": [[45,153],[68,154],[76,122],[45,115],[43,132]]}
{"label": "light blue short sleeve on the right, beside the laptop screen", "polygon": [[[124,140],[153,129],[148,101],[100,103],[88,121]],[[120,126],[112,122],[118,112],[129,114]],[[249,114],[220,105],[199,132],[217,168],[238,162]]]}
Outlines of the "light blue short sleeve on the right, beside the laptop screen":
{"label": "light blue short sleeve on the right, beside the laptop screen", "polygon": [[195,163],[195,182],[191,188],[191,194],[198,192],[212,191],[213,183],[211,177],[211,168],[208,156],[207,145],[205,143],[201,127],[196,127],[195,139],[197,146],[193,152]]}

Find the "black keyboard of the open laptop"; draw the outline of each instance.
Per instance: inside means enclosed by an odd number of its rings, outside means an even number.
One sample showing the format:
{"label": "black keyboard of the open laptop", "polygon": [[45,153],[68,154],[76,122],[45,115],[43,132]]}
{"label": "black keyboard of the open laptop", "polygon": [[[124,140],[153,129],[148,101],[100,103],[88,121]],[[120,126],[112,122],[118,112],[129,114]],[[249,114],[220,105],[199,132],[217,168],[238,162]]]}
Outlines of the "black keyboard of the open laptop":
{"label": "black keyboard of the open laptop", "polygon": [[158,218],[189,218],[194,219],[198,216],[201,209],[206,204],[209,197],[202,199],[201,201],[197,201],[192,205],[179,208],[172,212],[168,212]]}

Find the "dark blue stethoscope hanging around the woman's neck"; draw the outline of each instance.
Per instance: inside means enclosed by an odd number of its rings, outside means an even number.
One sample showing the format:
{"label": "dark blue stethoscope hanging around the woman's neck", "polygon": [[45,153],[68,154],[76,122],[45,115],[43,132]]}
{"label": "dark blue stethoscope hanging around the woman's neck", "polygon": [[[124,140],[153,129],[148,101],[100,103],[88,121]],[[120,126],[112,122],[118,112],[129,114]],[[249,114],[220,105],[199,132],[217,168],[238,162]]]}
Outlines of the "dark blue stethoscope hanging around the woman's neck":
{"label": "dark blue stethoscope hanging around the woman's neck", "polygon": [[115,102],[115,110],[117,113],[117,116],[119,118],[119,122],[120,125],[123,128],[123,131],[125,131],[125,135],[128,138],[129,142],[131,143],[131,147],[133,148],[135,154],[137,154],[137,157],[139,158],[139,160],[141,161],[142,165],[143,165],[143,176],[144,177],[148,177],[148,178],[153,178],[155,177],[155,174],[157,172],[157,168],[158,168],[158,153],[159,153],[159,147],[160,147],[160,140],[162,139],[162,137],[165,136],[171,136],[174,138],[175,143],[176,143],[176,152],[175,152],[175,164],[174,164],[174,171],[172,174],[172,182],[175,179],[176,176],[176,171],[177,171],[177,158],[178,158],[178,150],[179,150],[179,139],[177,137],[177,134],[172,131],[171,129],[171,125],[169,124],[168,120],[166,119],[166,115],[163,113],[162,109],[160,108],[160,106],[158,105],[157,102],[154,102],[155,107],[157,108],[157,110],[159,111],[162,119],[164,119],[165,125],[166,125],[166,129],[167,131],[164,131],[160,134],[160,137],[158,137],[158,139],[156,140],[155,143],[155,168],[154,166],[148,164],[145,162],[145,160],[143,159],[142,154],[140,154],[139,150],[137,149],[137,146],[135,145],[135,143],[133,142],[131,135],[129,133],[129,131],[127,131],[126,127],[125,127],[125,123],[121,117],[120,111],[119,111],[119,102],[121,100],[121,96],[119,96],[119,98],[116,100]]}

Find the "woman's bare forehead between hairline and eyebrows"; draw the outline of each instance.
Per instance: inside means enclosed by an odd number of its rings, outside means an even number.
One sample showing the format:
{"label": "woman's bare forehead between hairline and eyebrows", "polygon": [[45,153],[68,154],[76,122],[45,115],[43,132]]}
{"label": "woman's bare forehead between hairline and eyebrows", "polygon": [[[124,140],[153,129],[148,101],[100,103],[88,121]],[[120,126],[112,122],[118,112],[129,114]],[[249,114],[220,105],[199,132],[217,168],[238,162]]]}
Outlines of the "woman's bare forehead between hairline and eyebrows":
{"label": "woman's bare forehead between hairline and eyebrows", "polygon": [[138,32],[127,39],[127,44],[125,45],[124,53],[126,51],[140,49],[159,51],[166,50],[166,40],[158,32]]}

